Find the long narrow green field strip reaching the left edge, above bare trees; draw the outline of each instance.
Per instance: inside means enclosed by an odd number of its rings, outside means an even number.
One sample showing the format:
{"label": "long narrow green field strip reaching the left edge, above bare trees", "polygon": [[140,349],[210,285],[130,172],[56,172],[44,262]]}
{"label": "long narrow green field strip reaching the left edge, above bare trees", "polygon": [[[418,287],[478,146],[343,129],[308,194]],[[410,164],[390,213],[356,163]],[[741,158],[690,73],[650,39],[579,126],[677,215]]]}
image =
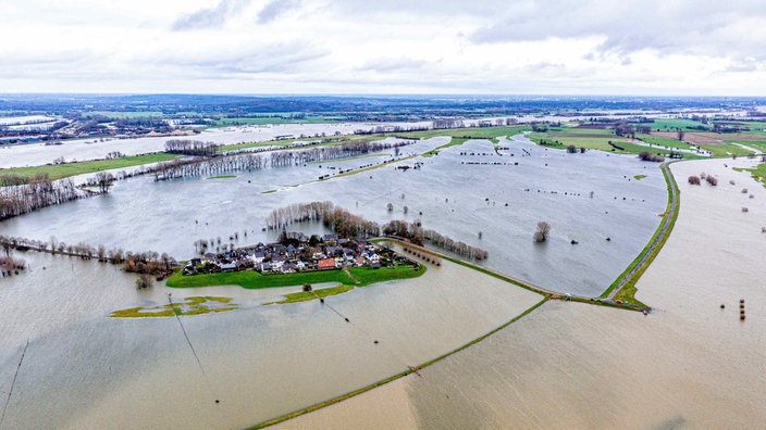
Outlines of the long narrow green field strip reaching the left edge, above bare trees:
{"label": "long narrow green field strip reaching the left edge, above bare trees", "polygon": [[158,152],[153,154],[123,156],[110,160],[94,160],[77,163],[51,164],[35,167],[0,168],[0,175],[18,175],[32,177],[36,174],[48,174],[50,179],[67,178],[75,175],[85,175],[113,168],[133,167],[141,164],[158,163],[180,157],[181,155]]}

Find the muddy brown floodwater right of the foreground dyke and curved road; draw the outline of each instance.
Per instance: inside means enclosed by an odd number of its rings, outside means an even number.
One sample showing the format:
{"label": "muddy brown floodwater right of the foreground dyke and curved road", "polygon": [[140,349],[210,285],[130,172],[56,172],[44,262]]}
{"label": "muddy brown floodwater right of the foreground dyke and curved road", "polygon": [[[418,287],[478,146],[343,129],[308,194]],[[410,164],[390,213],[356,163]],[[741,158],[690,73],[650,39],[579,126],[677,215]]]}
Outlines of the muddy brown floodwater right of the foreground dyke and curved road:
{"label": "muddy brown floodwater right of the foreground dyke and curved road", "polygon": [[[422,378],[384,385],[282,428],[358,428],[349,410],[370,417],[367,428],[762,428],[766,189],[731,169],[753,164],[672,165],[680,215],[638,283],[638,298],[654,308],[648,316],[549,302],[423,369]],[[717,176],[718,186],[687,184],[702,172]]]}

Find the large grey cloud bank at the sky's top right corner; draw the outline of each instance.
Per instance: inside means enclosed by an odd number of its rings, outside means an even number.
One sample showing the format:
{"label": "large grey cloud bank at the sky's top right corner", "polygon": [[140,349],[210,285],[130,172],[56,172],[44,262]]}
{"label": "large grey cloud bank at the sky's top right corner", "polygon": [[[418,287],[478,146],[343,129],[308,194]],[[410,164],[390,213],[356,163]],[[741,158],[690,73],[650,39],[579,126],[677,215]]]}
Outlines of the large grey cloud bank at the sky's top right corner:
{"label": "large grey cloud bank at the sky's top right corner", "polygon": [[766,50],[763,33],[743,29],[743,23],[766,21],[763,2],[755,0],[738,1],[736,8],[711,0],[564,0],[523,4],[498,13],[469,34],[468,40],[481,45],[601,37],[604,41],[595,54],[614,54],[621,61],[644,49],[656,50],[660,55],[739,58]]}

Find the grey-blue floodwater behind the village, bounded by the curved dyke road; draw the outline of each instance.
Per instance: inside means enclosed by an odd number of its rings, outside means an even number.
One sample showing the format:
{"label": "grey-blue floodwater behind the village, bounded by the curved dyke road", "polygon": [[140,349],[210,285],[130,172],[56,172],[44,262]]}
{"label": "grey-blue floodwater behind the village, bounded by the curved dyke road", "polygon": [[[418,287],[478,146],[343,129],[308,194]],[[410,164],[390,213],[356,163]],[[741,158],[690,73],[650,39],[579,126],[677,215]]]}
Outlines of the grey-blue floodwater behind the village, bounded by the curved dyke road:
{"label": "grey-blue floodwater behind the village, bounded by the curved dyke road", "polygon": [[[420,141],[401,148],[400,155],[423,153],[446,141]],[[523,137],[504,140],[501,147],[508,149],[497,154],[489,141],[472,140],[430,159],[410,159],[325,181],[317,178],[385,159],[373,154],[239,173],[231,179],[133,178],[116,182],[109,195],[9,219],[0,224],[0,231],[153,250],[186,260],[194,255],[193,243],[198,239],[220,237],[222,243],[235,245],[273,241],[275,232],[261,231],[273,208],[330,200],[381,224],[419,219],[424,228],[487,250],[490,257],[483,265],[517,278],[561,292],[601,294],[659,224],[657,214],[665,211],[667,194],[657,164],[598,151],[567,154],[536,147]],[[422,163],[419,169],[396,168],[418,162]],[[635,175],[646,178],[635,180]],[[391,213],[388,202],[394,205]],[[532,241],[540,220],[552,225],[544,244]],[[291,228],[323,231],[321,226]],[[235,232],[238,240],[230,241]]]}

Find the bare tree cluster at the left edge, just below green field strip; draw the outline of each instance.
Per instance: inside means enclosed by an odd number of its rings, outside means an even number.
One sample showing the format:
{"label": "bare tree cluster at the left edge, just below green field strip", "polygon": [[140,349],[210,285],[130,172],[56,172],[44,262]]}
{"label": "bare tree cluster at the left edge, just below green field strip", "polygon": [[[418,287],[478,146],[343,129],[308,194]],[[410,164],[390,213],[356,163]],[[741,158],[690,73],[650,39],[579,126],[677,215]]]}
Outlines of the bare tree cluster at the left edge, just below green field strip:
{"label": "bare tree cluster at the left edge, just below green field strip", "polygon": [[36,175],[27,184],[0,188],[0,220],[83,197],[72,178],[53,181]]}

